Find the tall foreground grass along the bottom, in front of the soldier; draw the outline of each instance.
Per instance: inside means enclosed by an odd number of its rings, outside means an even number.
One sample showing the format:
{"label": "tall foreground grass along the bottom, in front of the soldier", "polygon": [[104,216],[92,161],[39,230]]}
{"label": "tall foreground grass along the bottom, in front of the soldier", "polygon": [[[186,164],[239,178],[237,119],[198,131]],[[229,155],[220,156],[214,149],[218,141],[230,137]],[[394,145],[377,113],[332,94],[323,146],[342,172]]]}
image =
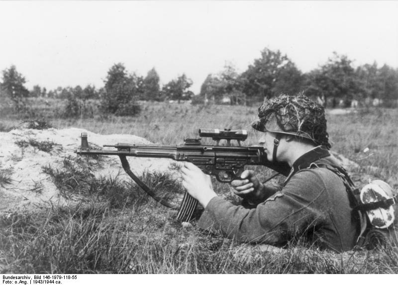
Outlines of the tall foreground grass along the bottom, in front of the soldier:
{"label": "tall foreground grass along the bottom, in front of the soldier", "polygon": [[6,266],[21,274],[355,274],[396,273],[398,266],[393,250],[336,254],[293,244],[262,252],[159,220],[140,206],[131,211],[84,203],[8,215],[0,226]]}

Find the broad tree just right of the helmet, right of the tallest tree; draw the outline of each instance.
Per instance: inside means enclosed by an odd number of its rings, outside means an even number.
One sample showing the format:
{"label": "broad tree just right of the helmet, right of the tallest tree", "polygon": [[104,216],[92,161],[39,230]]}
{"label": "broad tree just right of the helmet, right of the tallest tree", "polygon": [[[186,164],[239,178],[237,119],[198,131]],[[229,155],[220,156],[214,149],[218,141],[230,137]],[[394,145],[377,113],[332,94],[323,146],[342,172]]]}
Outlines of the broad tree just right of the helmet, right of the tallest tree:
{"label": "broad tree just right of the helmet, right of the tallest tree", "polygon": [[333,107],[337,99],[344,100],[345,106],[349,106],[352,99],[360,100],[363,94],[352,61],[336,52],[326,64],[308,73],[306,79],[306,94],[323,97],[325,106],[328,98],[332,98]]}

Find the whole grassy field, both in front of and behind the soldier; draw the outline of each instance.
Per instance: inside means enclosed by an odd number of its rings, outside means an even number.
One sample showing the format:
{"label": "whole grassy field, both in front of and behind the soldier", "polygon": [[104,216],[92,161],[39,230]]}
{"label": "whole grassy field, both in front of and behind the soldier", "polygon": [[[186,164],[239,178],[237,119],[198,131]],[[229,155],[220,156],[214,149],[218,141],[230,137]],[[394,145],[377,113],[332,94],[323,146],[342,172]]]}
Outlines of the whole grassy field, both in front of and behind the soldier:
{"label": "whole grassy field, both in front of and behind the soldier", "polygon": [[[53,115],[62,102],[51,102],[50,107],[36,99],[31,105],[36,116],[42,114],[58,129],[134,134],[163,144],[195,138],[199,128],[250,130],[257,115],[257,107],[142,104],[137,117],[86,119]],[[0,117],[0,131],[22,121],[11,113]],[[374,177],[398,188],[397,109],[328,113],[327,120],[332,150],[358,164],[350,170],[358,185]],[[250,132],[246,143],[256,140]],[[167,177],[144,179],[159,191],[179,187]],[[214,184],[220,194],[233,199],[228,185]],[[175,210],[156,204],[134,185],[103,179],[89,188],[88,198],[73,206],[0,214],[0,273],[398,273],[398,249],[393,246],[337,254],[300,242],[284,249],[242,245],[201,232],[195,222],[183,227],[174,220]]]}

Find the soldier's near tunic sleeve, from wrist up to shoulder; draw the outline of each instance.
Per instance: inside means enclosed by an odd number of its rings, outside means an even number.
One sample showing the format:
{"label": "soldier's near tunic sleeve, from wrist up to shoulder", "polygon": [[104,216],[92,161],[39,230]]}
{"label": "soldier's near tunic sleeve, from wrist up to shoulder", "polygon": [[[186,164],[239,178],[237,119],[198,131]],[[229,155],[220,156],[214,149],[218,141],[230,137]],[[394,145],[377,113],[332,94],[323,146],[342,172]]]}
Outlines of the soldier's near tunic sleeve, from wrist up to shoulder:
{"label": "soldier's near tunic sleeve, from wrist up to shoulder", "polygon": [[325,219],[325,195],[321,177],[312,170],[304,170],[293,176],[282,191],[254,209],[212,198],[199,227],[221,230],[227,237],[242,242],[281,244]]}

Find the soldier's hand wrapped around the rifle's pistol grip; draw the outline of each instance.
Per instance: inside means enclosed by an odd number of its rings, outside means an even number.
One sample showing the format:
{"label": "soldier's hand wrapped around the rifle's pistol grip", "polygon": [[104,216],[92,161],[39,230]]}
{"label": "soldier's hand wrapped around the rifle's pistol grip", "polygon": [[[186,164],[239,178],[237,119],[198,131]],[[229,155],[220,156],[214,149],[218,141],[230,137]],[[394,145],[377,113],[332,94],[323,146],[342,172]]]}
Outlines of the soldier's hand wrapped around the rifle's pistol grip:
{"label": "soldier's hand wrapped around the rifle's pistol grip", "polygon": [[261,199],[263,196],[264,185],[260,183],[252,170],[245,170],[240,176],[241,180],[233,180],[231,186],[233,192],[242,197],[251,200]]}

